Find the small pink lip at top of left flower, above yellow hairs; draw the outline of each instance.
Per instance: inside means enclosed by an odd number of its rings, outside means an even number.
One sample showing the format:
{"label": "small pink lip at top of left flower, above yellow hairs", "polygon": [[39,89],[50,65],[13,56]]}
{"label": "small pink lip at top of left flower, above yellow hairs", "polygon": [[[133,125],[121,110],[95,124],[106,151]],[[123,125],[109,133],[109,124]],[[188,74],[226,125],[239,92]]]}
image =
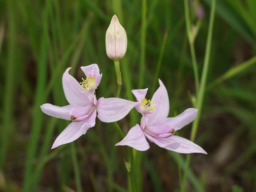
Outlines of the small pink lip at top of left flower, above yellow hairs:
{"label": "small pink lip at top of left flower, above yellow hairs", "polygon": [[82,66],[81,69],[85,73],[86,77],[93,77],[95,79],[95,88],[97,88],[102,77],[102,73],[99,74],[98,65],[90,64],[88,66]]}

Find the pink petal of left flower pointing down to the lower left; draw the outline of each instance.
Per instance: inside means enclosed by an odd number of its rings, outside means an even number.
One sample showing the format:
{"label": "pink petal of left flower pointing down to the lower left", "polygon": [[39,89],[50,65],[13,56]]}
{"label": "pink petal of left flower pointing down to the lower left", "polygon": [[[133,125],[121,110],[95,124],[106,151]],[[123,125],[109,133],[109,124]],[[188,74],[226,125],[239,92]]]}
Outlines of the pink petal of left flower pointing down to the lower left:
{"label": "pink petal of left flower pointing down to the lower left", "polygon": [[56,138],[53,143],[52,149],[78,139],[82,134],[85,134],[89,128],[95,126],[95,119],[96,109],[84,121],[70,123]]}

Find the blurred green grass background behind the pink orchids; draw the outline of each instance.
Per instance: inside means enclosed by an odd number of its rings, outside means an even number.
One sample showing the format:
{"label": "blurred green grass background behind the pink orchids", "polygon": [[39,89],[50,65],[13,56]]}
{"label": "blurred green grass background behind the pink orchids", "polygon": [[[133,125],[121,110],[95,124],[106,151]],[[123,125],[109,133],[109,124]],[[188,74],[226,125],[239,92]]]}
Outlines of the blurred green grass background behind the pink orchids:
{"label": "blurred green grass background behind the pink orchids", "polygon": [[[202,74],[211,0],[194,42]],[[170,113],[192,107],[195,83],[184,2],[176,0],[1,0],[0,1],[0,190],[3,192],[126,192],[126,147],[112,124],[96,120],[73,143],[51,150],[69,122],[48,117],[46,102],[67,104],[64,70],[83,77],[80,66],[96,63],[103,73],[97,98],[116,95],[113,62],[105,32],[116,14],[128,35],[121,60],[121,97],[131,89],[156,91],[156,71],[165,84]],[[256,190],[256,1],[217,0],[209,69],[195,143],[208,155],[186,155],[154,144],[135,154],[138,192],[251,192]],[[159,66],[159,69],[157,69]],[[138,71],[143,71],[142,77]],[[139,83],[138,83],[139,82]],[[140,117],[135,110],[119,122],[125,133]],[[177,134],[190,138],[192,124]],[[183,185],[183,186],[182,186]]]}

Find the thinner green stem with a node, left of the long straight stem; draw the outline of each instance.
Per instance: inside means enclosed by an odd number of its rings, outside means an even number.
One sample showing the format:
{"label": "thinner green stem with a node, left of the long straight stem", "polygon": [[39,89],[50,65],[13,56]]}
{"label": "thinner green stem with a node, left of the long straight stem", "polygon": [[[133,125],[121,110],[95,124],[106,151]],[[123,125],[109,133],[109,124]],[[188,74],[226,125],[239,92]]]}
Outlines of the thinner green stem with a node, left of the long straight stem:
{"label": "thinner green stem with a node, left of the long straight stem", "polygon": [[189,38],[190,43],[190,52],[192,57],[192,65],[194,71],[194,79],[195,79],[195,91],[197,93],[199,87],[199,75],[198,75],[198,67],[196,62],[196,56],[194,51],[194,37],[191,33],[191,25],[190,25],[190,18],[189,18],[189,0],[184,0],[184,9],[185,9],[185,20],[186,20],[186,30]]}

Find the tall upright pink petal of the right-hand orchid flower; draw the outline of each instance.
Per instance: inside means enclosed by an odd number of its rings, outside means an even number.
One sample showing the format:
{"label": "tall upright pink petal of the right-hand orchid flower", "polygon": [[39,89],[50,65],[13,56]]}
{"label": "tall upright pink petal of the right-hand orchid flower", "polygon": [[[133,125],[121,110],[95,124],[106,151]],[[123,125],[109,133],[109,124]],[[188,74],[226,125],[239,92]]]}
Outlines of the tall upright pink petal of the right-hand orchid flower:
{"label": "tall upright pink petal of the right-hand orchid flower", "polygon": [[159,79],[160,87],[152,97],[153,104],[156,104],[155,112],[148,114],[148,126],[157,124],[160,120],[167,118],[169,114],[169,98],[167,90]]}

